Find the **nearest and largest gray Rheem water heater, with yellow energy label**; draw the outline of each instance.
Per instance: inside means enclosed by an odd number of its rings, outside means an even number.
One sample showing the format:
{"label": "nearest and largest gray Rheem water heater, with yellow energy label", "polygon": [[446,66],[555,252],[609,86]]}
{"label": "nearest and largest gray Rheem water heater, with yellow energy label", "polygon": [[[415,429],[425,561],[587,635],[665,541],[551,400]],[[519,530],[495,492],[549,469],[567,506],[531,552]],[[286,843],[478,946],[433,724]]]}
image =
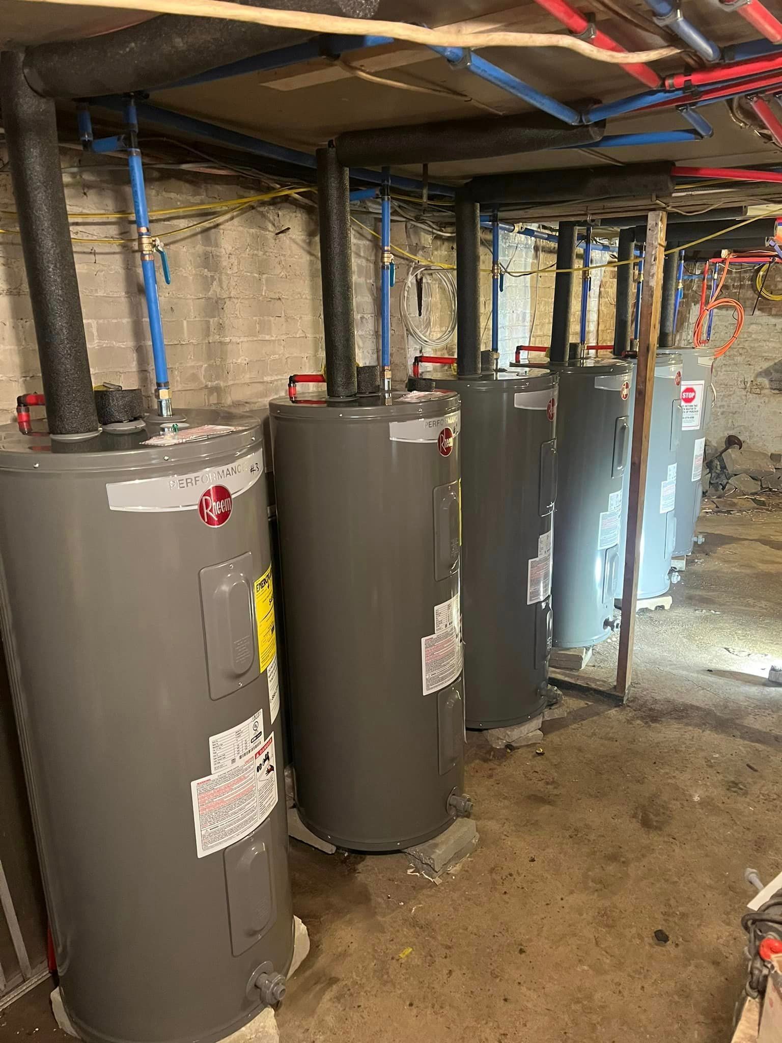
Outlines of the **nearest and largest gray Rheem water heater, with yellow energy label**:
{"label": "nearest and largest gray Rheem water heater, with yellow energy label", "polygon": [[261,433],[187,420],[163,441],[0,434],[3,641],[90,1043],[219,1040],[293,954]]}

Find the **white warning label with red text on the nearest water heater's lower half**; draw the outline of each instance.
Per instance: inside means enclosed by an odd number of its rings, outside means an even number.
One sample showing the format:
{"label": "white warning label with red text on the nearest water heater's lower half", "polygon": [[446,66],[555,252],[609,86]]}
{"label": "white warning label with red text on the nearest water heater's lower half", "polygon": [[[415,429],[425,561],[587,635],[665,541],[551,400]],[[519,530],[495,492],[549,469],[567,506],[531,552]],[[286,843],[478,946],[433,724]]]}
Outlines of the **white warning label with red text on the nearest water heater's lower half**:
{"label": "white warning label with red text on the nearest water heater's lower half", "polygon": [[210,758],[212,774],[190,783],[199,858],[251,833],[277,802],[274,735],[263,738],[260,711],[211,736]]}

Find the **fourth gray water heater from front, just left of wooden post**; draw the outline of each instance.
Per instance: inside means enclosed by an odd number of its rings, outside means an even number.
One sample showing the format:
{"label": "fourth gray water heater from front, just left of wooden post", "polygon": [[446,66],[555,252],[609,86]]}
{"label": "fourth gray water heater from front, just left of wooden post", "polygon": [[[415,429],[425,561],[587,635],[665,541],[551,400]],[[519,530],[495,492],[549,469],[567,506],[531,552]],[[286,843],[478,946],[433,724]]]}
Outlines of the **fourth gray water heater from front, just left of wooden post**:
{"label": "fourth gray water heater from front, just left of wooden post", "polygon": [[611,634],[630,442],[630,366],[576,359],[551,368],[559,375],[554,646],[588,648]]}

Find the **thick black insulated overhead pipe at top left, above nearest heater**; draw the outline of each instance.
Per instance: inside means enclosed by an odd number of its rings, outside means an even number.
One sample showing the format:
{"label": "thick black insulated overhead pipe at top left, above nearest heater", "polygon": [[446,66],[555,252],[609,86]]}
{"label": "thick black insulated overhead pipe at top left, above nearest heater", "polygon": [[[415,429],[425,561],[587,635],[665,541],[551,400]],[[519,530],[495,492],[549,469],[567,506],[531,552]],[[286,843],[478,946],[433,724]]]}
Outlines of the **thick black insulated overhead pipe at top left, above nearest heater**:
{"label": "thick black insulated overhead pipe at top left, above nearest heater", "polygon": [[[377,0],[239,0],[252,7],[371,17]],[[228,62],[307,39],[300,30],[229,19],[161,15],[87,40],[40,44],[25,56],[27,81],[49,98],[150,91]]]}

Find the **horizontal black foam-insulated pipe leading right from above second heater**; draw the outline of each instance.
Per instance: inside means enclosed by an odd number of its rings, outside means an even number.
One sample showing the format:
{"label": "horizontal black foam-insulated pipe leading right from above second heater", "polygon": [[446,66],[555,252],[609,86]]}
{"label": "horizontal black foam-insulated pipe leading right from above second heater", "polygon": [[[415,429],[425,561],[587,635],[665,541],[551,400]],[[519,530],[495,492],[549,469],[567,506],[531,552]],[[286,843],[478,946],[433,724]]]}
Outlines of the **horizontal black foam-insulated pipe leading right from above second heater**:
{"label": "horizontal black foam-insulated pipe leading right from above second heater", "polygon": [[416,123],[371,130],[348,130],[336,139],[337,155],[347,167],[409,163],[447,163],[537,152],[600,141],[605,123],[567,126],[543,113]]}

